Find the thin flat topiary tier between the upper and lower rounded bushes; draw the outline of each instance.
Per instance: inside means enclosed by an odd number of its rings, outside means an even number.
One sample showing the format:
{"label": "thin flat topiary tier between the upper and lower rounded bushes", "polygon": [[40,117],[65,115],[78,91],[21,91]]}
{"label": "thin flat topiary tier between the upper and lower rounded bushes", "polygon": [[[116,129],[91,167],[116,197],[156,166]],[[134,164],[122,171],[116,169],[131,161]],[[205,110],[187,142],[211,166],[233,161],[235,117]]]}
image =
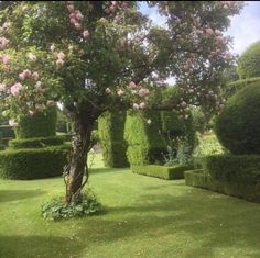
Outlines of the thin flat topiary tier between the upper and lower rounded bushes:
{"label": "thin flat topiary tier between the upper and lower rounded bushes", "polygon": [[235,93],[237,93],[240,89],[247,87],[248,85],[251,85],[253,82],[260,82],[260,77],[253,77],[253,78],[248,78],[248,79],[241,79],[237,81],[232,81],[228,83],[224,90],[223,90],[223,96],[228,99]]}

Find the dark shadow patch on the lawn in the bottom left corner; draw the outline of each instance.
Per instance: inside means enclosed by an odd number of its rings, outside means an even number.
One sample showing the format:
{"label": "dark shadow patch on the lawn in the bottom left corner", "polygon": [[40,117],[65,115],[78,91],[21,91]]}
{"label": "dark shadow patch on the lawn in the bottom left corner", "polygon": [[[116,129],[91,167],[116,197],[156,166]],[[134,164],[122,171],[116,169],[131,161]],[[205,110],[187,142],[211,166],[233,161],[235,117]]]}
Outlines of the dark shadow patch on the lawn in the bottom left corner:
{"label": "dark shadow patch on the lawn in the bottom left corner", "polygon": [[77,258],[82,248],[77,240],[57,236],[0,236],[2,258]]}

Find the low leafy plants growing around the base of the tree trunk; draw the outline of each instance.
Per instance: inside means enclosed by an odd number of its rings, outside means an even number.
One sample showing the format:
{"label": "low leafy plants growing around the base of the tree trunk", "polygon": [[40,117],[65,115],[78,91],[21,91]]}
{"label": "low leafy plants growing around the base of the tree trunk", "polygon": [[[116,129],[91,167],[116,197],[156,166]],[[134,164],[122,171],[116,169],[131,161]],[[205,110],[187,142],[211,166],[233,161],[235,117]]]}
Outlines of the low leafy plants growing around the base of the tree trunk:
{"label": "low leafy plants growing around the base of the tree trunk", "polygon": [[64,204],[64,198],[55,198],[42,206],[42,216],[47,220],[82,217],[98,214],[102,211],[96,197],[88,191],[77,202]]}

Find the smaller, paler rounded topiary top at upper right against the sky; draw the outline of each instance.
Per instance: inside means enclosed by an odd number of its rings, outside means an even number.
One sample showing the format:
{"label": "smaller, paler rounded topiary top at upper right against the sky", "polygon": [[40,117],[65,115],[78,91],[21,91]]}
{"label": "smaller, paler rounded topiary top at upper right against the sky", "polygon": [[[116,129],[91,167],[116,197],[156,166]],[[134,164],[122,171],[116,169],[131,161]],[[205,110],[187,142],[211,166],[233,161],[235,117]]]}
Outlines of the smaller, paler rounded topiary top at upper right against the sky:
{"label": "smaller, paler rounded topiary top at upper right against the sky", "polygon": [[260,41],[242,53],[238,59],[237,71],[241,79],[260,76]]}

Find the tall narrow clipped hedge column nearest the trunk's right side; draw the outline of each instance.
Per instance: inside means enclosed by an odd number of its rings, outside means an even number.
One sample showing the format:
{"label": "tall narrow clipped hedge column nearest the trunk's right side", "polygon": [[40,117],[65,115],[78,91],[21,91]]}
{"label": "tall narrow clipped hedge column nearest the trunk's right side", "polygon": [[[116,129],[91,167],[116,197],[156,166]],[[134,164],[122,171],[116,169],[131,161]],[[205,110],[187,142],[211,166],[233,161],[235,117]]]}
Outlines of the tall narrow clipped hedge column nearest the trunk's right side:
{"label": "tall narrow clipped hedge column nearest the trunk's right side", "polygon": [[106,112],[98,119],[104,162],[106,167],[128,167],[127,143],[123,139],[126,112]]}

